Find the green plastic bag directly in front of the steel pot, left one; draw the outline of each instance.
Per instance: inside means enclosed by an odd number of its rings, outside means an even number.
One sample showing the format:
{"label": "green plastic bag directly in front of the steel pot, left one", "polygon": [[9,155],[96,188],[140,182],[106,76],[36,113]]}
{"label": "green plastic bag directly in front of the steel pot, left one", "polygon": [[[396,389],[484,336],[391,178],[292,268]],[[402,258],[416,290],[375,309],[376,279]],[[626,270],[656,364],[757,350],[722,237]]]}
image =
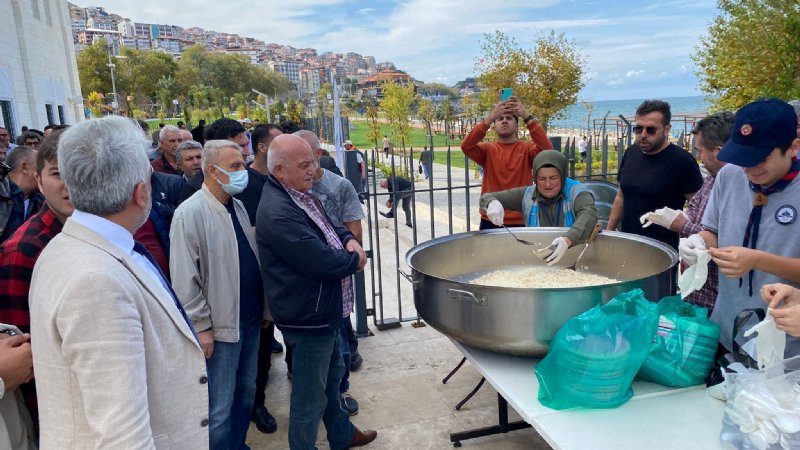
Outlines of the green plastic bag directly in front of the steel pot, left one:
{"label": "green plastic bag directly in front of the steel pot, left one", "polygon": [[625,403],[657,325],[657,305],[641,289],[568,320],[536,366],[539,402],[553,409]]}

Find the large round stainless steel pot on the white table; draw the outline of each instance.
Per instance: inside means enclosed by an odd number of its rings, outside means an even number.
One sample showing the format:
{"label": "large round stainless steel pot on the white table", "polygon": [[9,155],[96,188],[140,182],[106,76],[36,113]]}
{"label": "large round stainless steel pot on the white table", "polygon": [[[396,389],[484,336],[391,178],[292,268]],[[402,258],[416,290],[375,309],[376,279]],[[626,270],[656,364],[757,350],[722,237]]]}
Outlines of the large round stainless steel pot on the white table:
{"label": "large round stainless steel pot on the white table", "polygon": [[[518,237],[545,247],[563,228],[514,228]],[[566,267],[582,245],[562,258]],[[544,265],[532,248],[505,230],[460,233],[417,245],[406,254],[412,269],[414,304],[440,332],[465,344],[514,355],[544,356],[568,319],[634,288],[657,301],[676,290],[678,255],[642,236],[604,231],[589,246],[578,270],[618,283],[587,288],[519,289],[471,284],[495,270]]]}

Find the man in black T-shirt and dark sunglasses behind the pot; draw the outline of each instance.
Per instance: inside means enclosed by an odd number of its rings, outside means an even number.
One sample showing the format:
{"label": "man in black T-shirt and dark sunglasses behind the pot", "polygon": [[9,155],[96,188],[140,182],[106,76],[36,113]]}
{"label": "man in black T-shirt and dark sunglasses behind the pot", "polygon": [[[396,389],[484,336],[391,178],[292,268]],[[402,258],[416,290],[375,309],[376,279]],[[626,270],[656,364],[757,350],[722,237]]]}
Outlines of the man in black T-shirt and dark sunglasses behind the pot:
{"label": "man in black T-shirt and dark sunglasses behind the pot", "polygon": [[689,152],[669,142],[669,103],[646,100],[636,109],[633,132],[619,165],[619,191],[611,207],[608,229],[657,239],[678,249],[678,233],[664,227],[643,227],[639,218],[668,207],[682,210],[703,185],[700,167]]}

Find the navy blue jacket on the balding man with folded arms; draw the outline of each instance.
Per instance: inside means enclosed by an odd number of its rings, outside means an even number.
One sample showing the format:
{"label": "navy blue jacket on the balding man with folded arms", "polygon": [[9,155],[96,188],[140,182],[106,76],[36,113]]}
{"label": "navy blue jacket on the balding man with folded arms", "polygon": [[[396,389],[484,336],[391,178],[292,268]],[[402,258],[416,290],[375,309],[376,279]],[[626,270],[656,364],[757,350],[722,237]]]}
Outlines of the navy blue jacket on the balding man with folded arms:
{"label": "navy blue jacket on the balding man with folded arms", "polygon": [[[343,244],[355,239],[345,228],[333,227]],[[298,333],[338,330],[342,279],[356,272],[358,255],[331,248],[322,230],[272,175],[258,206],[256,241],[275,325]]]}

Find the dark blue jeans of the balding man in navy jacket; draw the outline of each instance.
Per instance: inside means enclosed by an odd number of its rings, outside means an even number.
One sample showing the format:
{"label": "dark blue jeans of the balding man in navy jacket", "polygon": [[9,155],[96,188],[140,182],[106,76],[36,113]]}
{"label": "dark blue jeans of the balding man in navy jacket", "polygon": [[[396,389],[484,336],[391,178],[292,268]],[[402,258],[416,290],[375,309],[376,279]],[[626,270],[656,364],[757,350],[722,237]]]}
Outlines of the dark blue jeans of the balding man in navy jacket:
{"label": "dark blue jeans of the balding man in navy jacket", "polygon": [[355,428],[339,404],[339,383],[344,373],[340,329],[324,334],[283,331],[293,347],[292,395],[289,409],[289,447],[312,450],[320,420],[332,450],[347,448]]}

